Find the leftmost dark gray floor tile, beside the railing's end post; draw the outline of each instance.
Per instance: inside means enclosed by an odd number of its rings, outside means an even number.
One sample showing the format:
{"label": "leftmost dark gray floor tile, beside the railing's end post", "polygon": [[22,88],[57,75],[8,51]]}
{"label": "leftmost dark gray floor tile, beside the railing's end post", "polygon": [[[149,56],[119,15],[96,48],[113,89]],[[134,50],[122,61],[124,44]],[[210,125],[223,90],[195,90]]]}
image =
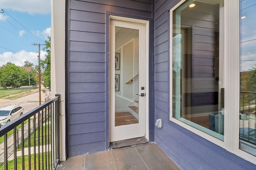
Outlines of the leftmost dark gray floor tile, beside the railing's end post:
{"label": "leftmost dark gray floor tile, beside the railing's end post", "polygon": [[84,155],[68,158],[58,165],[57,170],[84,170]]}

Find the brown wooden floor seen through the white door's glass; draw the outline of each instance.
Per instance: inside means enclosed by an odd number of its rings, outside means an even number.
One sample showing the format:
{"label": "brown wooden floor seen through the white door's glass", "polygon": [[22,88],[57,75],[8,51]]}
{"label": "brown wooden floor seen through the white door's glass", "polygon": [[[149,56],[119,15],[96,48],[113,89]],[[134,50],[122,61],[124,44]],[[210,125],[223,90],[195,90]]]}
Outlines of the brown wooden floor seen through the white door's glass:
{"label": "brown wooden floor seen through the white door's glass", "polygon": [[139,123],[138,119],[130,112],[116,112],[115,113],[115,126],[130,125]]}

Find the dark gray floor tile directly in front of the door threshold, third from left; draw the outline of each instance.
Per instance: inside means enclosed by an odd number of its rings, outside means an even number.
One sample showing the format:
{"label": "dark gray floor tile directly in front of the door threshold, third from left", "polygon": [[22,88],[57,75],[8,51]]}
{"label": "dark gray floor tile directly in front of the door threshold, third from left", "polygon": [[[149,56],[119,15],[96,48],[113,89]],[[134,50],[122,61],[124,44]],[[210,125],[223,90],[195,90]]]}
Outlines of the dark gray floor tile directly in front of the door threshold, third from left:
{"label": "dark gray floor tile directly in front of the door threshold, third from left", "polygon": [[148,170],[135,147],[111,150],[117,170]]}

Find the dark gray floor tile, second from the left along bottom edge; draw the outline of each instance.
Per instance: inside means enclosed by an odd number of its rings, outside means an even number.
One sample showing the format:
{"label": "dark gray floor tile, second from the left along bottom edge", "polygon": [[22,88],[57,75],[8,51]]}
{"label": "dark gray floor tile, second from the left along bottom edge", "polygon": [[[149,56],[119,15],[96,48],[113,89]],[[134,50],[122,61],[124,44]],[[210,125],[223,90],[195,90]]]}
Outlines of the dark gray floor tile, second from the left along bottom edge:
{"label": "dark gray floor tile, second from the left along bottom edge", "polygon": [[84,164],[85,170],[116,170],[110,150],[86,154]]}

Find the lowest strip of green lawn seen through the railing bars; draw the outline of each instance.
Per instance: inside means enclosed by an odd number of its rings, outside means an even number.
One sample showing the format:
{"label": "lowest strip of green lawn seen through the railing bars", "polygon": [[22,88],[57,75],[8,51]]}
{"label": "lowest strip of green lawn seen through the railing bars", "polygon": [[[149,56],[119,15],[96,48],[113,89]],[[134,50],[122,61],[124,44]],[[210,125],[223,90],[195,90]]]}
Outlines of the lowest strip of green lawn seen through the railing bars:
{"label": "lowest strip of green lawn seen through the railing bars", "polygon": [[[38,168],[38,154],[36,154],[36,165],[34,164],[34,154],[31,154],[31,169],[33,170],[34,169],[34,166],[36,166],[36,169],[40,170],[40,169],[43,169],[42,168],[42,155],[44,155],[44,169],[48,169],[48,162],[50,158],[51,160],[51,152],[44,152],[44,153],[40,153],[40,168]],[[47,165],[46,165],[46,159],[47,159]],[[24,162],[25,162],[25,170],[28,170],[28,167],[29,167],[29,164],[28,164],[28,155],[25,155],[24,156]],[[47,166],[47,167],[46,167]],[[50,168],[52,166],[50,165]],[[22,158],[21,156],[17,157],[17,170],[21,170],[22,169]],[[2,164],[0,166],[0,170],[4,170],[4,164]],[[8,170],[14,170],[14,160],[10,160],[8,161]]]}

